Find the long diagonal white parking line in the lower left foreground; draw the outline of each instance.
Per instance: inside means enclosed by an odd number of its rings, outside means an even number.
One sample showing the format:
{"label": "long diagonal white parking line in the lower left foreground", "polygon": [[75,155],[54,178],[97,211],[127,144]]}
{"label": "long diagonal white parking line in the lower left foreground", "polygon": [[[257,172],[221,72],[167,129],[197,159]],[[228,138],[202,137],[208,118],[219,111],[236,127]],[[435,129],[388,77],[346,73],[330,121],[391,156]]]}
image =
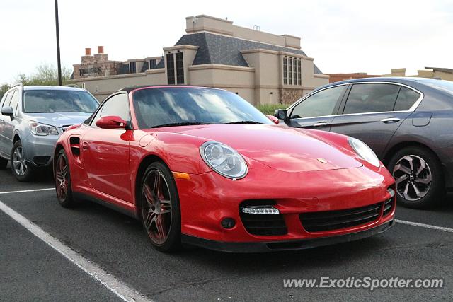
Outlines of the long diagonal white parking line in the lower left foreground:
{"label": "long diagonal white parking line in the lower left foreground", "polygon": [[86,272],[90,277],[101,283],[105,288],[112,291],[118,298],[122,301],[151,301],[145,298],[138,291],[130,288],[124,282],[116,279],[108,272],[105,272],[104,269],[98,267],[98,265],[87,260],[85,257],[77,253],[75,250],[72,250],[67,245],[64,245],[57,238],[50,236],[49,233],[46,233],[42,228],[35,225],[35,223],[29,221],[18,212],[14,211],[6,204],[0,201],[0,210],[4,211],[5,214],[10,216],[12,219],[20,223],[28,231],[33,233],[36,237],[40,238],[42,241],[50,245],[51,248],[62,254],[70,262],[74,263],[81,270]]}

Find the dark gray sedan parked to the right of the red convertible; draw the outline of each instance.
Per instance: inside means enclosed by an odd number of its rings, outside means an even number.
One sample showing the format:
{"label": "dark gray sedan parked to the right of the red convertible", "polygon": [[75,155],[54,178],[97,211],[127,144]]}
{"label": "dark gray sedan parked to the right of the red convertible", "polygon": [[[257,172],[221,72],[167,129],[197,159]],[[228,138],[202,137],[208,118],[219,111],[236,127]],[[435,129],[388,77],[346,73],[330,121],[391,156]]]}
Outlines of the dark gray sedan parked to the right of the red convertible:
{"label": "dark gray sedan parked to the right of the red convertible", "polygon": [[368,144],[396,179],[398,201],[423,208],[453,188],[453,82],[369,78],[331,83],[275,115],[289,127]]}

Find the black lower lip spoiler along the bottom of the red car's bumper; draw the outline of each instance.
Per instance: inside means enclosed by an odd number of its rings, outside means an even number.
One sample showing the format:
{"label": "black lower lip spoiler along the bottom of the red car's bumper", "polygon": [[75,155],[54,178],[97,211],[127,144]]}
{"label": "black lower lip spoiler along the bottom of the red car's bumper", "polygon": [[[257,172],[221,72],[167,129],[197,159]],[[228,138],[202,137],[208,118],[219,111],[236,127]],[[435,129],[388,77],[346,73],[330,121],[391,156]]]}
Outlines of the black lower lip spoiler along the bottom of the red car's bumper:
{"label": "black lower lip spoiler along the bottom of the red car's bumper", "polygon": [[364,239],[373,235],[384,233],[389,228],[394,226],[394,224],[395,221],[394,219],[392,219],[389,222],[386,222],[374,228],[369,228],[365,231],[348,233],[340,236],[304,240],[243,243],[243,242],[222,242],[183,235],[181,237],[181,241],[188,245],[195,245],[201,248],[208,248],[210,250],[217,250],[221,252],[277,252],[279,250],[306,250],[309,248],[317,248],[324,245],[347,243],[355,240]]}

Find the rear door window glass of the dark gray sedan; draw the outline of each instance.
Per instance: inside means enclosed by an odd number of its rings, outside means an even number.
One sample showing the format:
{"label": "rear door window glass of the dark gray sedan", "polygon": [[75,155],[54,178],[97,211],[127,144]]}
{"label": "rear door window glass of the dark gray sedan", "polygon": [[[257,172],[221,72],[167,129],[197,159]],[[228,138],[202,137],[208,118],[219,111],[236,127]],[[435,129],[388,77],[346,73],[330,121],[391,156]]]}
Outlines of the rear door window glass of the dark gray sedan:
{"label": "rear door window glass of the dark gray sedan", "polygon": [[400,86],[391,84],[355,84],[343,114],[393,111]]}

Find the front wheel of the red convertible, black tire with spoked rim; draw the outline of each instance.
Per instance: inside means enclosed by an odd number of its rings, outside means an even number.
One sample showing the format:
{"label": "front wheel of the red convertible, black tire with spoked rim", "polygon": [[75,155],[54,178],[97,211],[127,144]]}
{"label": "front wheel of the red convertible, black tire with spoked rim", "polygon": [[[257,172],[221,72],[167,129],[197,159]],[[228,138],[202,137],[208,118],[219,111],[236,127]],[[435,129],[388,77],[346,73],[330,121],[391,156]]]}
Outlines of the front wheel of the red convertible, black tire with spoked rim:
{"label": "front wheel of the red convertible, black tire with spoked rim", "polygon": [[[159,183],[162,184],[160,191],[154,190],[154,187],[159,187],[159,185],[153,185],[152,188],[149,185],[149,182],[152,181],[154,183],[157,177],[161,179],[159,180]],[[146,194],[146,196],[145,185],[149,189],[149,194]],[[166,185],[166,188],[164,185]],[[151,244],[156,250],[161,252],[179,250],[181,247],[180,206],[176,182],[171,171],[164,163],[151,163],[140,180],[138,190],[139,216]],[[156,194],[156,192],[158,193]],[[150,202],[149,199],[151,199]],[[161,226],[159,228],[162,230],[161,232],[159,232],[158,224]],[[160,236],[161,233],[164,235]]]}

